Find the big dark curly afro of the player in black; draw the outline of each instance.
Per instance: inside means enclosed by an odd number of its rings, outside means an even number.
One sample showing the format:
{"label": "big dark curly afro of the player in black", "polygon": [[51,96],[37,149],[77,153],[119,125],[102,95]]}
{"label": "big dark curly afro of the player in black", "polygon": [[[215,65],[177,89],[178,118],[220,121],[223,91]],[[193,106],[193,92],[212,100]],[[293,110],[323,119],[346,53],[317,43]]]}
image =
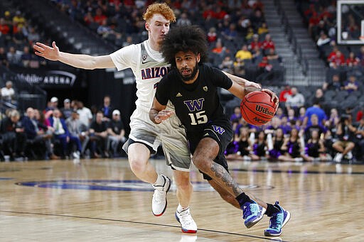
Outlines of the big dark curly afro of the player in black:
{"label": "big dark curly afro of the player in black", "polygon": [[175,55],[183,51],[200,54],[200,64],[208,59],[208,43],[206,35],[198,26],[176,26],[171,28],[161,43],[164,60],[176,67]]}

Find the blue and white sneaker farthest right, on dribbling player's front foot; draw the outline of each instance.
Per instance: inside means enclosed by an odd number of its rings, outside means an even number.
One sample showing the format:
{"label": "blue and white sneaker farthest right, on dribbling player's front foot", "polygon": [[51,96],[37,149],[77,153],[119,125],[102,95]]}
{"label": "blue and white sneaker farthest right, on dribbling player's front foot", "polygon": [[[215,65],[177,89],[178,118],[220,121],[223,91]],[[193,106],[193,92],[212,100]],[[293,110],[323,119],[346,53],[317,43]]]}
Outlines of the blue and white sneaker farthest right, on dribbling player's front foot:
{"label": "blue and white sneaker farthest right, on dribbling player's front foot", "polygon": [[264,230],[264,236],[280,236],[282,234],[282,228],[289,219],[291,218],[291,214],[289,211],[283,209],[283,207],[279,206],[279,202],[274,204],[275,207],[279,208],[279,212],[272,215],[269,220],[269,228]]}

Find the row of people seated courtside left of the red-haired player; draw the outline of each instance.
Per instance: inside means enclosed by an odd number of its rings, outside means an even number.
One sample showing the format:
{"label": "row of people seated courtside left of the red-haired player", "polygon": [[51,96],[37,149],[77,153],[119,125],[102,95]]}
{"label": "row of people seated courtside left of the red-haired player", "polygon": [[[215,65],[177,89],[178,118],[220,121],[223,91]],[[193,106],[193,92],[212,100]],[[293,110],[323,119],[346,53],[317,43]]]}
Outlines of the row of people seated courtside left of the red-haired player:
{"label": "row of people seated courtside left of the red-haired player", "polygon": [[92,109],[70,99],[59,106],[57,97],[44,110],[6,109],[0,127],[1,160],[115,158],[126,141],[121,113],[109,96]]}

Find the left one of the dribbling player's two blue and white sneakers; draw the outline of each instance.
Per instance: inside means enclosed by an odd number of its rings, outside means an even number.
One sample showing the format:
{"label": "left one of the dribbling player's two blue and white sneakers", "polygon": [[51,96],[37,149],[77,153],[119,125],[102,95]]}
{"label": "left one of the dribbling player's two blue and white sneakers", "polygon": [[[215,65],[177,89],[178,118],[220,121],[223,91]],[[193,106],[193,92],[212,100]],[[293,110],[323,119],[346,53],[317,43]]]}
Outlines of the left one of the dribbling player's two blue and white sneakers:
{"label": "left one of the dribbling player's two blue and white sneakers", "polygon": [[244,224],[247,226],[247,229],[251,228],[261,219],[263,219],[263,215],[265,213],[265,208],[260,207],[255,201],[245,202],[242,205],[242,218],[245,219]]}

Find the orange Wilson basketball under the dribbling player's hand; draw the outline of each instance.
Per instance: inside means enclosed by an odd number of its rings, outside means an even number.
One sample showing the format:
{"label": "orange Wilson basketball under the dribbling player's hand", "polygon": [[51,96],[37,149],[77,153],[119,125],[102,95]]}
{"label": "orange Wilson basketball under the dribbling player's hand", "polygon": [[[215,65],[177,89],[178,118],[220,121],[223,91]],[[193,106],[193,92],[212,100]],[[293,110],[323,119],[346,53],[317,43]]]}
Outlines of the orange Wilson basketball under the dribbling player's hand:
{"label": "orange Wilson basketball under the dribbling player's hand", "polygon": [[275,114],[276,104],[266,92],[255,91],[245,95],[240,103],[242,118],[255,126],[268,123]]}

